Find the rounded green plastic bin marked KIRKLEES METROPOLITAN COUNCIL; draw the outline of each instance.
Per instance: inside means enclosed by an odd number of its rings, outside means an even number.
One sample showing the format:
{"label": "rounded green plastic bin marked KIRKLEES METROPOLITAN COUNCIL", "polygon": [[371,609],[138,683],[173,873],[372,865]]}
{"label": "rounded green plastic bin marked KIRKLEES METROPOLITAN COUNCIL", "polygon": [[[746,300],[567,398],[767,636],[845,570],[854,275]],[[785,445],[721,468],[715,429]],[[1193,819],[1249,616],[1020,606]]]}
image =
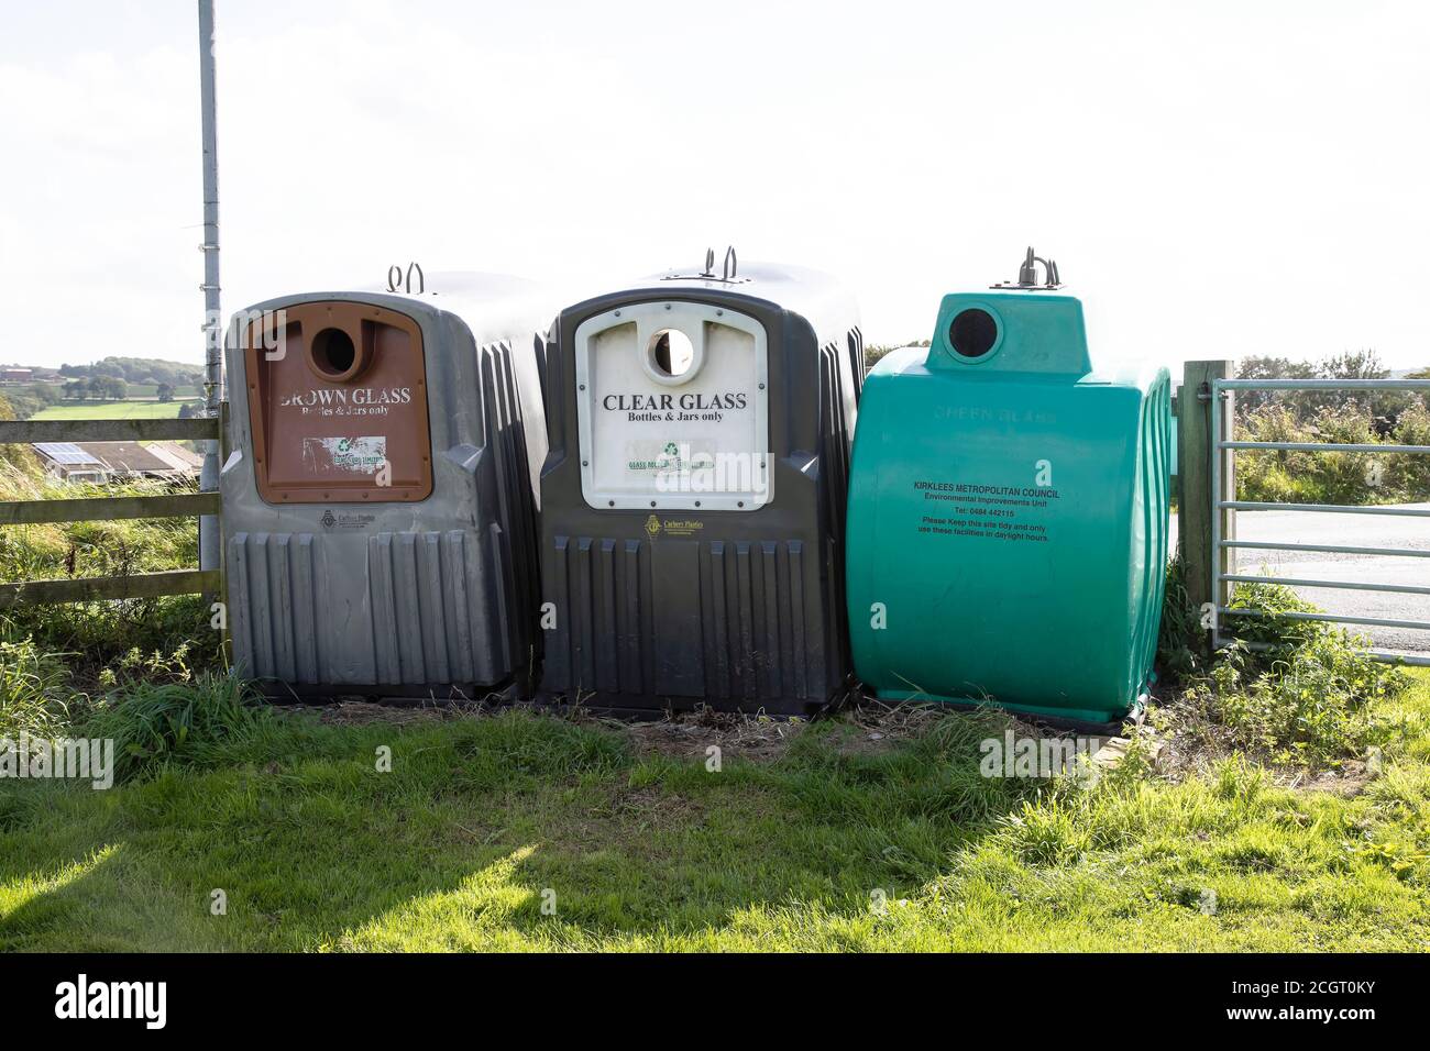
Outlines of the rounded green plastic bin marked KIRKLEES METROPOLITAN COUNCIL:
{"label": "rounded green plastic bin marked KIRKLEES METROPOLITAN COUNCIL", "polygon": [[885,699],[1114,724],[1147,695],[1167,563],[1167,369],[1094,370],[1071,296],[945,296],[868,375],[854,662]]}

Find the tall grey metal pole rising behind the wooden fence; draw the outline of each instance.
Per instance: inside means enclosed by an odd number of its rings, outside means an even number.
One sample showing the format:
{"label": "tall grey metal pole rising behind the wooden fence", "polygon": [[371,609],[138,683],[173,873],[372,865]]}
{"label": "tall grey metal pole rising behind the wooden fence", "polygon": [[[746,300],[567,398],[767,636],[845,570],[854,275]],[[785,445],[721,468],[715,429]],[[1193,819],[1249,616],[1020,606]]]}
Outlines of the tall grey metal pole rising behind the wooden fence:
{"label": "tall grey metal pole rising behind the wooden fence", "polygon": [[[213,92],[213,0],[199,0],[199,109],[203,123],[203,335],[204,415],[217,419],[223,400],[223,312],[219,306],[219,132]],[[219,488],[219,443],[204,442],[200,492]],[[199,568],[219,568],[219,519],[199,519]]]}

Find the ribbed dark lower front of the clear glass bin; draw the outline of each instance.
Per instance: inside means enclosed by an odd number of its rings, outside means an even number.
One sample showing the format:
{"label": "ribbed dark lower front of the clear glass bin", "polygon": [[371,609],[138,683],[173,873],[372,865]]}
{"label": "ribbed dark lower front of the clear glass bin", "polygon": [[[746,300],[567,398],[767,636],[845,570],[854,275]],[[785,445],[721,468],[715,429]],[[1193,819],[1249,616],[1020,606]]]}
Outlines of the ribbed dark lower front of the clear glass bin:
{"label": "ribbed dark lower front of the clear glass bin", "polygon": [[[632,699],[822,701],[824,623],[807,606],[807,558],[801,541],[558,536],[548,593],[572,612],[548,642],[546,675]],[[652,575],[681,596],[671,608],[656,605]]]}

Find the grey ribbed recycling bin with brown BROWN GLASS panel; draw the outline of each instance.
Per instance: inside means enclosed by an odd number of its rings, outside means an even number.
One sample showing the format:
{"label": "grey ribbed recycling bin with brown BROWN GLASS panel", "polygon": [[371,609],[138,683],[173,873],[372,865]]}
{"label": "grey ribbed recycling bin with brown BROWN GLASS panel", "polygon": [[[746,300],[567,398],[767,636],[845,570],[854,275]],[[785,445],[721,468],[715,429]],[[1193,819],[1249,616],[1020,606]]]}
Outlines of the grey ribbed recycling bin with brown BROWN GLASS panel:
{"label": "grey ribbed recycling bin with brown BROWN GLASS panel", "polygon": [[229,628],[272,692],[528,685],[551,312],[513,279],[429,287],[285,296],[229,327]]}

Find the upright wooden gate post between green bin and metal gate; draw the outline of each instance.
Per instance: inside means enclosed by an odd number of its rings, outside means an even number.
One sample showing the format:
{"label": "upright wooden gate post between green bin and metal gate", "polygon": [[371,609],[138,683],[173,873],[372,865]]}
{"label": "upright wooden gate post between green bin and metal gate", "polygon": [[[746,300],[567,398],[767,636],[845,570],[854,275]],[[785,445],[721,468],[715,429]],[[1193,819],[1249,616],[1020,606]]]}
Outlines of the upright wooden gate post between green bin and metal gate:
{"label": "upright wooden gate post between green bin and metal gate", "polygon": [[[1223,602],[1223,596],[1211,593],[1211,515],[1216,512],[1218,495],[1211,492],[1211,456],[1216,442],[1211,435],[1211,380],[1231,379],[1236,362],[1187,362],[1183,366],[1181,393],[1177,416],[1177,473],[1181,478],[1181,500],[1177,505],[1177,545],[1187,576],[1187,601],[1193,609],[1207,602]],[[1221,438],[1231,438],[1234,402],[1227,392],[1221,403]],[[1233,453],[1223,450],[1223,492],[1236,493],[1233,475]],[[1236,525],[1231,510],[1221,512],[1221,536],[1234,539]],[[1227,555],[1221,552],[1221,566],[1227,569]]]}

